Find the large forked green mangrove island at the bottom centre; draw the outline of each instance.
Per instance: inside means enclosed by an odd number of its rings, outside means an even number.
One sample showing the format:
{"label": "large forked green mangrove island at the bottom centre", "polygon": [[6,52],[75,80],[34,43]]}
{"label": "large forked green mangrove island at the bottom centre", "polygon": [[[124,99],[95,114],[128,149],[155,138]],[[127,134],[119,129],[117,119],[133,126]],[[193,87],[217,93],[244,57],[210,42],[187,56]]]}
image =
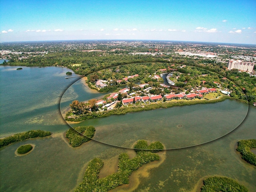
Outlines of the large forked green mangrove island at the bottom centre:
{"label": "large forked green mangrove island at the bottom centre", "polygon": [[[147,142],[144,140],[140,140],[138,141],[138,143],[136,144],[136,146],[145,146],[145,144],[148,146]],[[159,149],[160,145],[162,145],[160,142],[155,143],[156,144],[153,145],[150,144],[150,147],[148,146],[148,148],[156,150]],[[154,146],[156,148],[154,148]],[[107,192],[120,185],[128,184],[128,177],[132,174],[134,170],[137,170],[143,164],[160,159],[160,157],[157,154],[152,153],[151,150],[139,150],[136,152],[136,156],[132,159],[130,159],[128,154],[126,153],[120,154],[118,172],[101,179],[98,178],[98,173],[103,167],[103,162],[99,158],[93,159],[89,162],[88,167],[84,173],[83,181],[76,188],[75,192]]]}

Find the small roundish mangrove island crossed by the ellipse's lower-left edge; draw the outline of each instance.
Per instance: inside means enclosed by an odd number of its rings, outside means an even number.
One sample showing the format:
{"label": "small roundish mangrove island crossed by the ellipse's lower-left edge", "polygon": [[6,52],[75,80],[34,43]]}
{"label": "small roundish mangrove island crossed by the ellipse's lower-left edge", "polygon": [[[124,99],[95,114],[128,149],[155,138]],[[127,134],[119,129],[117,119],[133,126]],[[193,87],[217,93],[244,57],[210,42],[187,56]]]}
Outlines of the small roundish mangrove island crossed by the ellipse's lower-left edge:
{"label": "small roundish mangrove island crossed by the ellipse's lower-left edge", "polygon": [[88,142],[94,136],[95,128],[94,126],[79,126],[70,128],[66,132],[66,138],[69,139],[69,143],[72,147],[78,147],[81,144]]}

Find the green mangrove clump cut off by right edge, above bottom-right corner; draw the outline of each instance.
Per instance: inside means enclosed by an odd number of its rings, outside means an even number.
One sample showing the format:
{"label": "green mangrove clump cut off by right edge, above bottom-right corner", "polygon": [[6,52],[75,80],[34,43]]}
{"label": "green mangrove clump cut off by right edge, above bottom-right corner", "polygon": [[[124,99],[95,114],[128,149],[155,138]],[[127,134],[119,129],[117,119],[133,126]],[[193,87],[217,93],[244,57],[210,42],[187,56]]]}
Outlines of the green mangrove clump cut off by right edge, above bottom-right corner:
{"label": "green mangrove clump cut off by right edge, above bottom-right corner", "polygon": [[240,140],[236,150],[242,155],[242,159],[256,166],[256,155],[250,151],[251,148],[256,148],[256,139]]}

